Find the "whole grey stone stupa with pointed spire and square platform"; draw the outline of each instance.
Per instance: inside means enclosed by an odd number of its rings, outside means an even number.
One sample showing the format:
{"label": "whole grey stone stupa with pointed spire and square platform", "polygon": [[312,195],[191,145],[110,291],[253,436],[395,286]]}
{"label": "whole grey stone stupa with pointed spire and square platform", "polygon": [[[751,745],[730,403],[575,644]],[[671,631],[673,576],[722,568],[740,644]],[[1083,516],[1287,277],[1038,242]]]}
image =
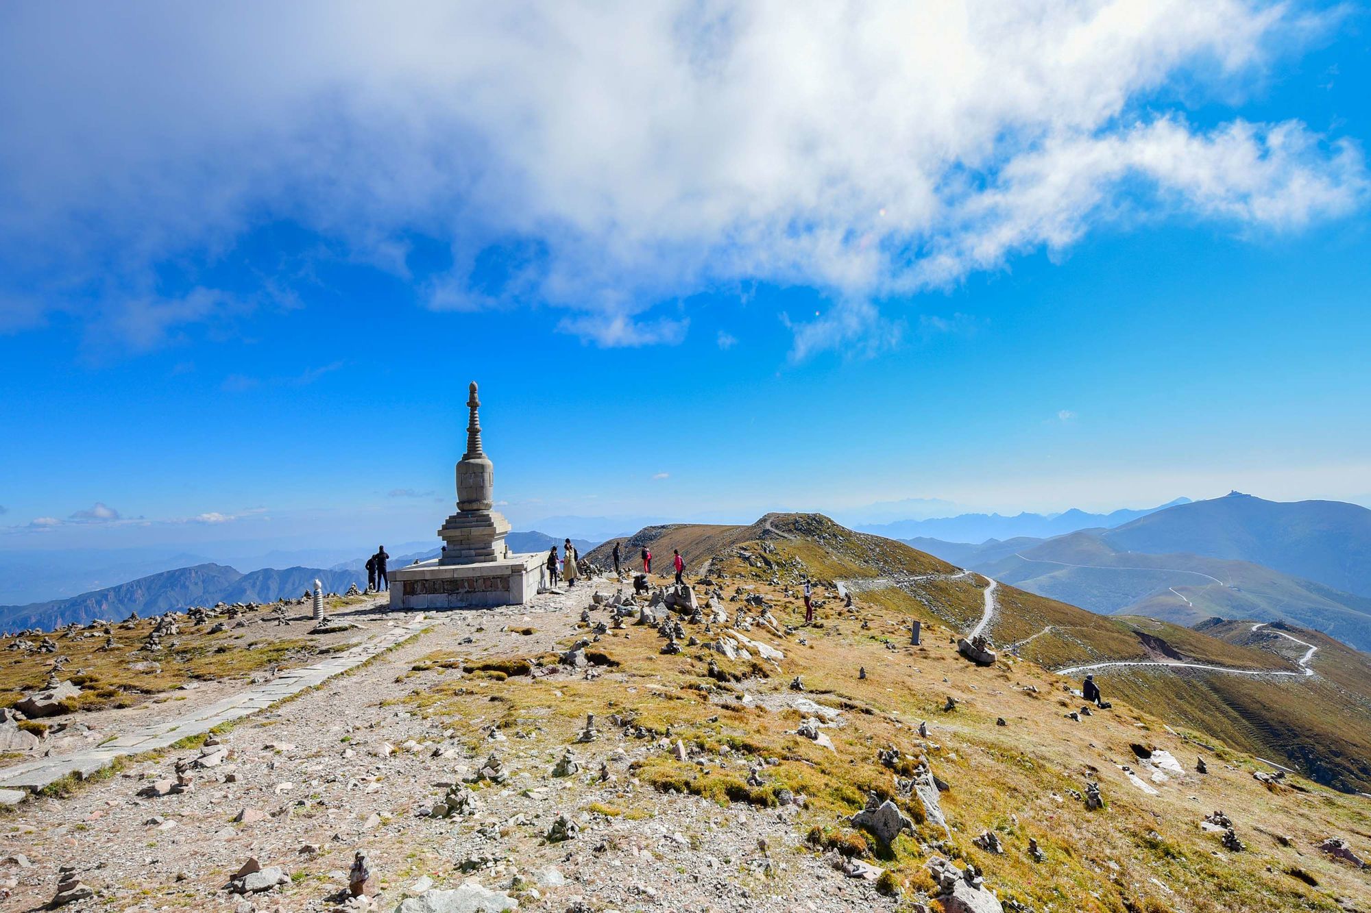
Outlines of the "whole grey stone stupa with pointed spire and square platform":
{"label": "whole grey stone stupa with pointed spire and square platform", "polygon": [[466,454],[457,465],[457,513],[437,531],[443,554],[391,572],[391,609],[483,609],[522,605],[537,592],[546,555],[511,554],[510,524],[491,507],[495,466],[481,450],[481,400],[466,400]]}

